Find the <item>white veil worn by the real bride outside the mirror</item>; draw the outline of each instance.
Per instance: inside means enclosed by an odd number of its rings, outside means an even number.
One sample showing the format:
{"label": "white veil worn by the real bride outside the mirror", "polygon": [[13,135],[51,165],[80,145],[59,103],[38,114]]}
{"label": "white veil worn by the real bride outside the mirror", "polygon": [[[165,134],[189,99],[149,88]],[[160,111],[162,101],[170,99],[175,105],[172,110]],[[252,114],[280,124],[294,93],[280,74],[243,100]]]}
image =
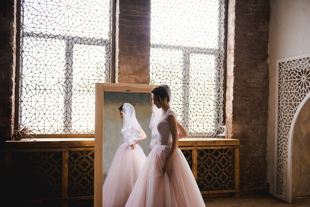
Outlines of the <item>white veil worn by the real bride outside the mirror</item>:
{"label": "white veil worn by the real bride outside the mirror", "polygon": [[[169,97],[169,107],[171,106],[172,103],[172,91],[170,89],[170,86],[167,84],[160,84],[159,86],[163,87],[163,89],[167,92],[168,97]],[[150,121],[150,129],[151,129],[151,143],[150,143],[150,148],[151,150],[155,147],[155,145],[158,142],[159,138],[159,132],[157,130],[157,125],[158,122],[161,118],[162,115],[162,110],[161,108],[157,108],[155,104],[152,105],[152,116],[151,116],[151,121]]]}

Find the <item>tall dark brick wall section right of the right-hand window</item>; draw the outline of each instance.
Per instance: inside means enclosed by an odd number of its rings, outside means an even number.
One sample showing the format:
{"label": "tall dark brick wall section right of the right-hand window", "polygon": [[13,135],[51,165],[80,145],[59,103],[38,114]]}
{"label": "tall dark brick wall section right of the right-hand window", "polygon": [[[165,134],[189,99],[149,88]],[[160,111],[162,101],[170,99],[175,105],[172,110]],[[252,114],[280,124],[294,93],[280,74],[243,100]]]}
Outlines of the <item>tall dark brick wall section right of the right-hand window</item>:
{"label": "tall dark brick wall section right of the right-hand window", "polygon": [[235,4],[231,133],[240,139],[240,188],[249,189],[267,185],[270,2],[235,0]]}

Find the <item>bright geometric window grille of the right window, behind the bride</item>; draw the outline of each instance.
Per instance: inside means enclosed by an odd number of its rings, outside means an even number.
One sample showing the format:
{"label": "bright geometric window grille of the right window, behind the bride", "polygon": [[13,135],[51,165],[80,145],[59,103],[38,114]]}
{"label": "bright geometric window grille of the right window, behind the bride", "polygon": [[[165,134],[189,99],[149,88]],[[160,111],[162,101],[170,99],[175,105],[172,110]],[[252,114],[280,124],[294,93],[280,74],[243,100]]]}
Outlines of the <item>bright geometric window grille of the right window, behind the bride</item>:
{"label": "bright geometric window grille of the right window, behind the bride", "polygon": [[152,0],[150,84],[166,83],[190,137],[224,125],[225,0]]}

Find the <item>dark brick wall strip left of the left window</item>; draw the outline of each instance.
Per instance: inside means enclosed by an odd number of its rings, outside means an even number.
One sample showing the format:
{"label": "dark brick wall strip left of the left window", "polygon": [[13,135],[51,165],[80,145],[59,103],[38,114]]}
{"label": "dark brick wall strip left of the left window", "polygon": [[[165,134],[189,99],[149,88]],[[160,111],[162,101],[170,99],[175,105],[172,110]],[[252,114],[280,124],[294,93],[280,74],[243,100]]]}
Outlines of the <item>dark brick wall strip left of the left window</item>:
{"label": "dark brick wall strip left of the left window", "polygon": [[[16,6],[14,0],[0,5],[0,137],[10,139],[14,124]],[[3,142],[1,142],[1,149]],[[3,152],[3,151],[1,151]]]}

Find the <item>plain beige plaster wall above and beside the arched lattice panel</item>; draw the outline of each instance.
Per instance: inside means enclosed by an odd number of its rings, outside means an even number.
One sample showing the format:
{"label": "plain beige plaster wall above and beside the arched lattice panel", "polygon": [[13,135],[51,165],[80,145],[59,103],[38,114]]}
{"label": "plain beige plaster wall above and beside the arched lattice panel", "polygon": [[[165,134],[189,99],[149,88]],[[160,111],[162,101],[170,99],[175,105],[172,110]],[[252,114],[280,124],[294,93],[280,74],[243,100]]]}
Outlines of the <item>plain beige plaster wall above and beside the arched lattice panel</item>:
{"label": "plain beige plaster wall above and beside the arched lattice panel", "polygon": [[276,61],[310,52],[310,1],[271,0],[269,22],[269,101],[267,133],[267,183],[273,193],[276,141]]}

